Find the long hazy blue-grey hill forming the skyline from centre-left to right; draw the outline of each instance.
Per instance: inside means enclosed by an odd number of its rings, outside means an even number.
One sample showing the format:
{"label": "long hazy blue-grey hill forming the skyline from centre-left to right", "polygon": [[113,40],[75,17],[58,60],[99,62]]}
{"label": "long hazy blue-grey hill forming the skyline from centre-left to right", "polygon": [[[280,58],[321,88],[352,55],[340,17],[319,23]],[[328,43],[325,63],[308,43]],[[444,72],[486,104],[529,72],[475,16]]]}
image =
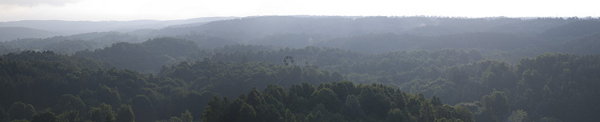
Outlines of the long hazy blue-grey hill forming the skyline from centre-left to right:
{"label": "long hazy blue-grey hill forming the skyline from centre-left to right", "polygon": [[[158,37],[199,34],[229,38],[246,44],[287,47],[291,44],[294,45],[292,47],[303,47],[331,38],[381,33],[409,34],[414,36],[449,36],[462,33],[509,33],[515,36],[527,36],[528,38],[534,36],[572,38],[569,35],[553,35],[551,33],[561,33],[561,31],[566,31],[566,28],[577,29],[578,25],[586,25],[585,21],[588,21],[588,23],[598,22],[598,20],[594,19],[578,18],[568,18],[566,20],[563,18],[525,20],[508,17],[260,16],[214,21],[199,25],[184,24],[185,26],[169,26],[158,31],[147,31],[147,33]],[[584,23],[578,24],[580,22]],[[590,26],[588,28],[593,30],[594,27]],[[570,32],[566,32],[565,34],[568,33]],[[303,39],[299,40],[302,42],[290,43],[292,40],[283,39],[287,36]],[[576,35],[575,37],[579,36],[583,35]],[[310,40],[308,43],[306,43],[307,39]],[[301,43],[301,45],[296,45],[298,43]]]}

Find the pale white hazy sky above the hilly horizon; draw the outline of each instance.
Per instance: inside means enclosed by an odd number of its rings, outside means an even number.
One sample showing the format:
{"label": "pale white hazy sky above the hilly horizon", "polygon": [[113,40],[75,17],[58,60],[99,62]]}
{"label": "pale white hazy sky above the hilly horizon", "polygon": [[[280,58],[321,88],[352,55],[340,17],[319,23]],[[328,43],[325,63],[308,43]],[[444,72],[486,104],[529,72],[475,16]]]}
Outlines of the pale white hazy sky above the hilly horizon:
{"label": "pale white hazy sky above the hilly horizon", "polygon": [[598,3],[592,0],[0,0],[0,22],[181,20],[255,15],[597,17]]}

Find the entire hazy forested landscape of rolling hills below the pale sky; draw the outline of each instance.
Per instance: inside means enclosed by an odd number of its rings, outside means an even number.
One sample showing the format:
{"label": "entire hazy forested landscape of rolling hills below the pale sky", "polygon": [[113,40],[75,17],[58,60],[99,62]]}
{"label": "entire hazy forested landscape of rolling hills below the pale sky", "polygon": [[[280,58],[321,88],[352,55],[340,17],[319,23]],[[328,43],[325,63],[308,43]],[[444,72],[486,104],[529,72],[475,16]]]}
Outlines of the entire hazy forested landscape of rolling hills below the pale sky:
{"label": "entire hazy forested landscape of rolling hills below the pale sky", "polygon": [[594,121],[599,41],[600,20],[577,17],[267,16],[18,38],[0,42],[0,121]]}

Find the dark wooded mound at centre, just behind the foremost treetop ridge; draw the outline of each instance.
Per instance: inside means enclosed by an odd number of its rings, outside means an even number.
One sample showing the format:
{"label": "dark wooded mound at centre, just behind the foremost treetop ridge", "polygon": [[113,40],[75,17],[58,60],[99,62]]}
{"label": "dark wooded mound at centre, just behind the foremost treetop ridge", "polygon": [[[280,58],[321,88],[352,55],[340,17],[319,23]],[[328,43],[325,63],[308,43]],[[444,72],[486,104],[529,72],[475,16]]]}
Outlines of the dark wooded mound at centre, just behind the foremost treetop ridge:
{"label": "dark wooded mound at centre, just behind the foremost treetop ridge", "polygon": [[[272,63],[232,63],[209,59],[164,67],[160,75],[181,79],[182,83],[188,84],[193,89],[212,91],[232,98],[254,87],[264,88],[268,84],[291,86],[304,81],[317,84],[320,81],[331,81],[331,77],[334,77],[327,70],[315,68],[278,66]],[[313,91],[303,91],[301,96],[310,96]],[[281,100],[287,95],[277,93],[272,96]]]}

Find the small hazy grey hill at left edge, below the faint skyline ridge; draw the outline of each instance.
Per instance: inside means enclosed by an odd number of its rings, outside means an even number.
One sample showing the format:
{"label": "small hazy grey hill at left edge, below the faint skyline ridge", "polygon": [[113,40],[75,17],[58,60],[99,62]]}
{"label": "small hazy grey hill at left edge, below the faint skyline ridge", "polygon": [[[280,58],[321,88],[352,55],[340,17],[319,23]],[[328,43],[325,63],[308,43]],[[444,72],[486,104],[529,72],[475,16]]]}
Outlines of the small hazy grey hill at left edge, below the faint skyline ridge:
{"label": "small hazy grey hill at left edge, below the faint skyline ridge", "polygon": [[26,27],[0,27],[0,41],[9,41],[17,38],[47,38],[59,35],[61,33]]}

